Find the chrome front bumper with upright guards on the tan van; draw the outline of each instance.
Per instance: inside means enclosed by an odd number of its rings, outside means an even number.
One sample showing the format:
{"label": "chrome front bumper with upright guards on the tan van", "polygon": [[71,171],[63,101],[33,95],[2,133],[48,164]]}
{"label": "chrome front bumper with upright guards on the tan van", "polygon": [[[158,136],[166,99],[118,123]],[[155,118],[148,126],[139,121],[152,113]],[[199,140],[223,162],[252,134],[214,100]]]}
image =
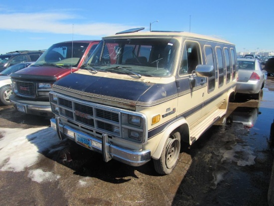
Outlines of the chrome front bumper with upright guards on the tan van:
{"label": "chrome front bumper with upright guards on the tan van", "polygon": [[141,166],[147,163],[151,158],[150,150],[133,151],[118,147],[110,143],[107,134],[103,134],[102,140],[100,141],[83,132],[73,129],[70,126],[63,125],[60,121],[60,117],[52,118],[50,120],[50,125],[57,131],[58,137],[60,139],[66,137],[76,142],[76,135],[81,135],[85,138],[88,138],[91,141],[90,149],[102,153],[103,160],[105,162],[108,162],[111,159],[115,159],[131,166]]}

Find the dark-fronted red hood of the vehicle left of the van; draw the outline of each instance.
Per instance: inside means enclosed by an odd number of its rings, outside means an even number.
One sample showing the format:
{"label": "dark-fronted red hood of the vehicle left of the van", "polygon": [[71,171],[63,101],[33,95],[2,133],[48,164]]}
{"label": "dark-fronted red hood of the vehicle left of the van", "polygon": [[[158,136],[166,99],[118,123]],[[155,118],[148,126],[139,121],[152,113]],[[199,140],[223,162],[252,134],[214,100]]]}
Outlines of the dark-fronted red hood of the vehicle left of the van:
{"label": "dark-fronted red hood of the vehicle left of the van", "polygon": [[[72,72],[78,69],[73,68]],[[11,78],[20,80],[44,80],[56,81],[71,73],[69,68],[60,68],[55,66],[31,66],[10,74]]]}

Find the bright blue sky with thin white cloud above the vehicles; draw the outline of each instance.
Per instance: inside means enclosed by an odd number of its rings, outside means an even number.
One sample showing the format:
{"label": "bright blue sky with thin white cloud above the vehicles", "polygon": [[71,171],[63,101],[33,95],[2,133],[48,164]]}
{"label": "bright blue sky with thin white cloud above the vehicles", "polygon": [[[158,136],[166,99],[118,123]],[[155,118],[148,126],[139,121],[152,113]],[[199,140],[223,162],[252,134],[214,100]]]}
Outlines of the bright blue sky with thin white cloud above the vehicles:
{"label": "bright blue sky with thin white cloud above the vehicles", "polygon": [[[0,53],[101,39],[129,28],[191,31],[226,39],[237,52],[274,51],[274,0],[6,0]],[[73,33],[73,34],[72,34]]]}

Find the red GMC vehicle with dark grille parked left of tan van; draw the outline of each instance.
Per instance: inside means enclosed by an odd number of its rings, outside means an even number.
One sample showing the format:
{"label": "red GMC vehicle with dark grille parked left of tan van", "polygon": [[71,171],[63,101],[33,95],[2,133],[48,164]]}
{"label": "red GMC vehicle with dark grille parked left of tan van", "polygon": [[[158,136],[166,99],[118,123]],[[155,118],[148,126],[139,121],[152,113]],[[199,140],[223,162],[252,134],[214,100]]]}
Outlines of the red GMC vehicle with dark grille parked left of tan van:
{"label": "red GMC vehicle with dark grille parked left of tan van", "polygon": [[31,67],[10,74],[13,94],[9,101],[20,112],[53,116],[49,103],[52,84],[77,71],[99,42],[77,40],[53,44]]}

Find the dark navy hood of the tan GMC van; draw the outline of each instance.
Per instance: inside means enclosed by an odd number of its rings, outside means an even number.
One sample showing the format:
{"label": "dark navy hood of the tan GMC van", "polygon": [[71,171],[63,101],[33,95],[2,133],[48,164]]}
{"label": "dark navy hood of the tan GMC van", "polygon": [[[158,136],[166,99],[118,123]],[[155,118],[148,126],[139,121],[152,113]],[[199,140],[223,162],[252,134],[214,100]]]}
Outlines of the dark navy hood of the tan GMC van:
{"label": "dark navy hood of the tan GMC van", "polygon": [[[56,81],[53,91],[82,100],[136,110],[177,95],[175,82],[156,84],[143,79],[108,78],[72,73]],[[73,94],[71,94],[73,93]]]}

